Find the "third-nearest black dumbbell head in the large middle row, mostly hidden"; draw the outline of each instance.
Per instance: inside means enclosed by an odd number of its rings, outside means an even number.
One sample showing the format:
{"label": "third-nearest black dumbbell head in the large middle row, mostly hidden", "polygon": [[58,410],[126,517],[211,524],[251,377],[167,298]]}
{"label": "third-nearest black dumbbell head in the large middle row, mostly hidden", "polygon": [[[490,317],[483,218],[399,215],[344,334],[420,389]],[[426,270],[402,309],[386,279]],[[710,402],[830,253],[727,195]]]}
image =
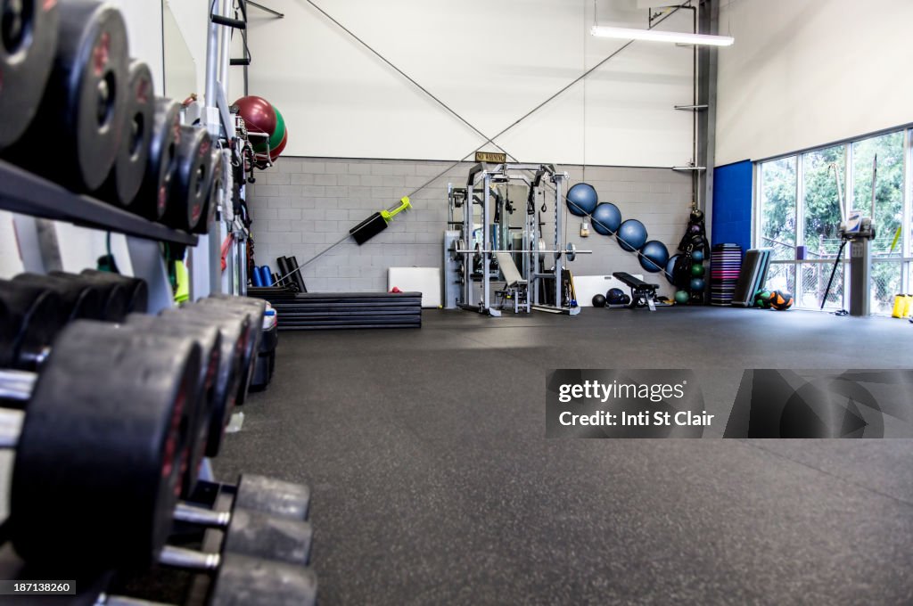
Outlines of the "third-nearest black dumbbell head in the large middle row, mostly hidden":
{"label": "third-nearest black dumbbell head in the large middle row, mostly hidden", "polygon": [[213,413],[206,437],[206,456],[219,454],[226,425],[235,410],[235,399],[241,381],[241,361],[247,346],[247,318],[212,318],[188,311],[187,308],[165,309],[162,318],[177,324],[194,323],[215,326],[222,333],[222,352],[213,393]]}

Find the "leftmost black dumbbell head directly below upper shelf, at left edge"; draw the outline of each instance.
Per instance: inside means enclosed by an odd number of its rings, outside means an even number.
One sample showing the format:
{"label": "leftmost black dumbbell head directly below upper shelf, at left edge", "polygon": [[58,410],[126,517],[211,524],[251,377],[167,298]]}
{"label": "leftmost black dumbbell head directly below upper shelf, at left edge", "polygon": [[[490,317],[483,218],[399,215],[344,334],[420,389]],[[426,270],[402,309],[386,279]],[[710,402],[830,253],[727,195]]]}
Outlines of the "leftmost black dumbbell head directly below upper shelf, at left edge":
{"label": "leftmost black dumbbell head directly below upper shelf, at left edge", "polygon": [[68,319],[57,291],[0,280],[0,367],[35,369]]}

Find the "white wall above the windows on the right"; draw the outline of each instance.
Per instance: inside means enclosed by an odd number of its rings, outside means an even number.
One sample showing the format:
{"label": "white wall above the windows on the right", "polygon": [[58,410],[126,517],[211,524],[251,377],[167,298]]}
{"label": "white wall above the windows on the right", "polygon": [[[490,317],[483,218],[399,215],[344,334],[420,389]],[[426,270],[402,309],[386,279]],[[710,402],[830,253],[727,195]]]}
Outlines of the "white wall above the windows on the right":
{"label": "white wall above the windows on the right", "polygon": [[717,164],[913,121],[909,0],[729,0],[719,30]]}

